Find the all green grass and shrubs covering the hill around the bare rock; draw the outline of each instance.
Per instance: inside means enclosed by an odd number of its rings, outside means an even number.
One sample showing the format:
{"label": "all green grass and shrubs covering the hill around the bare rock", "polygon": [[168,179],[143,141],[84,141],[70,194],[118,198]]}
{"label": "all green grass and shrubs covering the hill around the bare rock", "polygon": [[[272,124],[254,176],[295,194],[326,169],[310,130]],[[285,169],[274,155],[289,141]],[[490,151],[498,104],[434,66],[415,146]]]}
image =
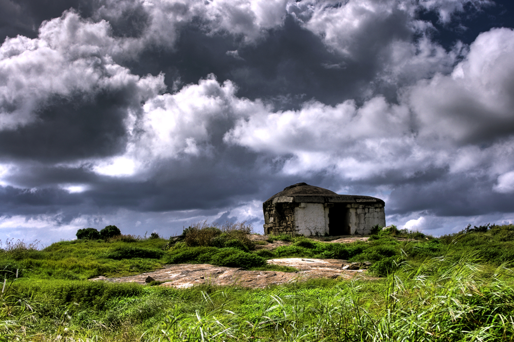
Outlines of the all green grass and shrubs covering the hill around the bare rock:
{"label": "all green grass and shrubs covering the hill around the bare rock", "polygon": [[[0,341],[514,340],[512,225],[469,226],[439,238],[377,229],[369,242],[353,244],[296,236],[272,251],[253,250],[250,239],[226,246],[240,241],[237,229],[190,228],[171,244],[117,235],[39,250],[7,240],[0,245]],[[266,259],[283,256],[373,261],[371,272],[381,277],[266,289],[86,280],[172,262],[266,269]]]}

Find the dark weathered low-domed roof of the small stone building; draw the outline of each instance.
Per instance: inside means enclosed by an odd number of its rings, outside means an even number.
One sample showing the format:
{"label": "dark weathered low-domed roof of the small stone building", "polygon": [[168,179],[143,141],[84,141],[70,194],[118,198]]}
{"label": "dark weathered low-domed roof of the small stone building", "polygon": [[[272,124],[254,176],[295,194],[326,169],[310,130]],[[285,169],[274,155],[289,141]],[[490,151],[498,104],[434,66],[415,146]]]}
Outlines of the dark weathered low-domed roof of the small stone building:
{"label": "dark weathered low-domed roof of the small stone building", "polygon": [[[282,198],[280,198],[282,197]],[[284,188],[283,191],[274,194],[265,203],[277,199],[278,202],[307,202],[307,203],[355,203],[355,202],[370,202],[382,203],[383,200],[371,196],[360,195],[339,195],[334,191],[308,185],[307,183],[297,183]]]}

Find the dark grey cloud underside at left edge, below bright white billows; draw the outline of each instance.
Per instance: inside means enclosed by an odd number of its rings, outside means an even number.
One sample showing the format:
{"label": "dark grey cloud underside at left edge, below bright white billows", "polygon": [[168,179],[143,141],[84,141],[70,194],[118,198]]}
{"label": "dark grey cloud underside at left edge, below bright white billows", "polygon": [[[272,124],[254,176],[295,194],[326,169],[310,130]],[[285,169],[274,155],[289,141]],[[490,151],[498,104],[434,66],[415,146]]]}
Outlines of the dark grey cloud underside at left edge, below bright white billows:
{"label": "dark grey cloud underside at left edge, below bright white billows", "polygon": [[127,140],[123,120],[133,94],[88,95],[52,96],[36,111],[33,123],[0,131],[0,155],[62,162],[122,153]]}

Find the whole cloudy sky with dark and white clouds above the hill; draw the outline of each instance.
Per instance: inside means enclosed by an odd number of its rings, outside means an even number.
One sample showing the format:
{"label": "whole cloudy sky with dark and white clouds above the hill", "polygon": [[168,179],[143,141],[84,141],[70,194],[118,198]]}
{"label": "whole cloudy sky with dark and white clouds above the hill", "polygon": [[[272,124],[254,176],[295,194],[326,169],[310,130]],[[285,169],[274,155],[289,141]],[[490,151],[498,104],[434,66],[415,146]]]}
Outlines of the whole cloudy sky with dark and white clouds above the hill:
{"label": "whole cloudy sky with dark and white clouds above the hill", "polygon": [[514,4],[0,0],[0,240],[263,233],[305,182],[514,223]]}

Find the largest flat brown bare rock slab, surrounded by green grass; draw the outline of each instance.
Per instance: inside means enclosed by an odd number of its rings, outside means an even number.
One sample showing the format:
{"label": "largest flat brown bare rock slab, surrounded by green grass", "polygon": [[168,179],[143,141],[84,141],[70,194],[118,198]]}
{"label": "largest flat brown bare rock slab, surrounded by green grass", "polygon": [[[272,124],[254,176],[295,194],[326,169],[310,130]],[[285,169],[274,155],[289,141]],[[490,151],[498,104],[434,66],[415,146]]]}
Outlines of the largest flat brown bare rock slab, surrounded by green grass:
{"label": "largest flat brown bare rock slab, surrounded by green grass", "polygon": [[156,271],[128,277],[106,278],[102,276],[89,280],[145,284],[146,278],[150,276],[157,281],[163,281],[164,283],[160,286],[176,288],[189,288],[199,284],[265,288],[269,285],[286,284],[291,281],[306,280],[309,278],[352,279],[357,275],[363,276],[365,271],[363,269],[343,269],[344,266],[351,264],[346,260],[338,259],[284,258],[271,259],[268,260],[268,263],[292,266],[300,271],[247,271],[242,268],[219,267],[208,264],[176,264],[166,265],[164,268]]}

